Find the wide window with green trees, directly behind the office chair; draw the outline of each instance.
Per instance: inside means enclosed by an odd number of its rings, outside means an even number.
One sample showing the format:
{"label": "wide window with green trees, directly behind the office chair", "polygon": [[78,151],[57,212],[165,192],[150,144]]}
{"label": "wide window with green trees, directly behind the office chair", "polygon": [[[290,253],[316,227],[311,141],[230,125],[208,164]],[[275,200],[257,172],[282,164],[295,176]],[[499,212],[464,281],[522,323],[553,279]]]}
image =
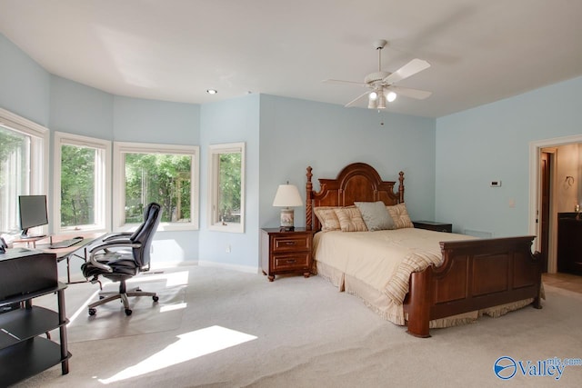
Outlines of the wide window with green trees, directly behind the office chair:
{"label": "wide window with green trees, directly behind the office chair", "polygon": [[198,229],[195,145],[114,143],[115,229],[143,221],[146,204],[162,206],[161,230]]}

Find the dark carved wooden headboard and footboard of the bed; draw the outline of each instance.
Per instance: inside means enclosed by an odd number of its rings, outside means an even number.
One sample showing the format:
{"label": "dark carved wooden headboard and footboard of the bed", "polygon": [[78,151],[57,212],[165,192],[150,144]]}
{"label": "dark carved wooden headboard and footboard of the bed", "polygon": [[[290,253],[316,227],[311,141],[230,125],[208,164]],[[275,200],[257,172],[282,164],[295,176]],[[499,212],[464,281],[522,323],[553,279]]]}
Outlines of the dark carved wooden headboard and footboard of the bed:
{"label": "dark carved wooden headboard and footboard of the bed", "polygon": [[[396,182],[383,181],[368,164],[347,165],[336,179],[318,179],[312,184],[307,167],[306,225],[320,230],[314,208],[349,206],[356,201],[404,203],[404,173]],[[429,322],[505,303],[533,299],[541,308],[541,260],[532,254],[534,236],[441,242],[443,264],[410,275],[409,292],[403,302],[407,333],[429,337]]]}

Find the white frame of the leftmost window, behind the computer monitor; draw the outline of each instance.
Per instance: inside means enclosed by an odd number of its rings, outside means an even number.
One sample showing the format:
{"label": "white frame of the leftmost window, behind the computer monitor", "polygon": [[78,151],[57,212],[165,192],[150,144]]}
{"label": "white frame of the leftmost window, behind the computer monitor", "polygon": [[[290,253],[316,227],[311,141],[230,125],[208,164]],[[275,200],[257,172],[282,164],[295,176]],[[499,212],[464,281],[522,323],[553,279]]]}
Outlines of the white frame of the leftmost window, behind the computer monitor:
{"label": "white frame of the leftmost window, behind the computer monitor", "polygon": [[[18,114],[13,114],[5,109],[0,108],[0,124],[5,128],[20,134],[30,136],[30,174],[28,177],[28,193],[20,194],[48,194],[48,174],[49,174],[49,150],[50,150],[50,131],[43,125],[36,124]],[[18,220],[18,209],[16,196],[15,217]],[[49,217],[51,217],[51,210]],[[49,218],[50,223],[50,218]],[[50,224],[39,226],[42,234],[48,233]]]}

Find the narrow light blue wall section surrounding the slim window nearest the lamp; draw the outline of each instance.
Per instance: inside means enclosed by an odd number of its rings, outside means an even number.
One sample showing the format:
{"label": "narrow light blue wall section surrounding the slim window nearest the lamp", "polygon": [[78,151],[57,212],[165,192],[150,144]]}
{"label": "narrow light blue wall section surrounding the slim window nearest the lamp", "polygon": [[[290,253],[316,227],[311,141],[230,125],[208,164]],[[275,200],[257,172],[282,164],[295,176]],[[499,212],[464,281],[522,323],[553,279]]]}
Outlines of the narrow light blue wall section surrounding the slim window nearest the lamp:
{"label": "narrow light blue wall section surrounding the slim window nearest the lamp", "polygon": [[[259,192],[259,95],[246,95],[224,102],[203,104],[200,111],[200,238],[199,260],[226,264],[242,270],[258,268]],[[208,230],[208,146],[246,144],[245,233]],[[262,162],[261,162],[262,163]],[[231,252],[226,252],[230,245]]]}

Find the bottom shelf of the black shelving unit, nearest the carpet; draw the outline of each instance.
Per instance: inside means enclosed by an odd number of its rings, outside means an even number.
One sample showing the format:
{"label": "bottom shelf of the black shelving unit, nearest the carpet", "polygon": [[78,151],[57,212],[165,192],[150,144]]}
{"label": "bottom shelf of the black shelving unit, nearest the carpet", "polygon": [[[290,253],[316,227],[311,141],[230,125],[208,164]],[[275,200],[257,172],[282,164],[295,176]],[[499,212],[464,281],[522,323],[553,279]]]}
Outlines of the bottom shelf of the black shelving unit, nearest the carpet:
{"label": "bottom shelf of the black shelving unit, nearest the carpet", "polygon": [[45,369],[62,363],[71,353],[61,357],[61,345],[35,337],[0,350],[0,382],[11,385]]}

